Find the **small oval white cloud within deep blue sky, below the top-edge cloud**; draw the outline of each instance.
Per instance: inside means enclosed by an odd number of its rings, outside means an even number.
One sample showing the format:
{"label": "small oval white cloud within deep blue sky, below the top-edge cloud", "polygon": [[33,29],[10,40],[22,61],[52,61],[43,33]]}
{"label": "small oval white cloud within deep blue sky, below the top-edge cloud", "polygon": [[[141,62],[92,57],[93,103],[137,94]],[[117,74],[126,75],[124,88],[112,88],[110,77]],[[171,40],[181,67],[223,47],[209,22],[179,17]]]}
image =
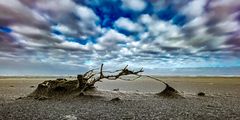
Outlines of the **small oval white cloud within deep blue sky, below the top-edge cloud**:
{"label": "small oval white cloud within deep blue sky, below the top-edge cloud", "polygon": [[129,20],[128,18],[121,17],[119,18],[114,25],[117,28],[124,29],[130,32],[140,32],[143,30],[143,27],[138,24],[134,23],[133,21]]}

